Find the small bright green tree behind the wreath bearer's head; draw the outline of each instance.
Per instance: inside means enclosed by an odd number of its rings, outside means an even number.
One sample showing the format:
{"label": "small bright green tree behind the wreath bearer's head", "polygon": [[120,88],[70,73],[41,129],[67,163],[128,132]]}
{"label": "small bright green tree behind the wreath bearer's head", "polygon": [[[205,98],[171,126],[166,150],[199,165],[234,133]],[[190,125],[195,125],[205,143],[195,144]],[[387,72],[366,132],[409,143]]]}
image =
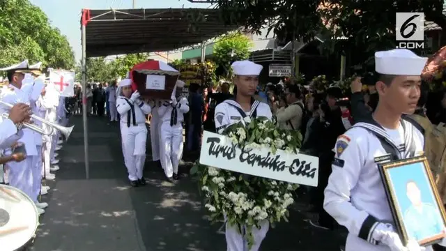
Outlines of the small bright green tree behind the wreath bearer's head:
{"label": "small bright green tree behind the wreath bearer's head", "polygon": [[217,75],[230,75],[231,63],[249,58],[252,40],[241,33],[225,36],[214,44],[213,60],[217,64]]}

